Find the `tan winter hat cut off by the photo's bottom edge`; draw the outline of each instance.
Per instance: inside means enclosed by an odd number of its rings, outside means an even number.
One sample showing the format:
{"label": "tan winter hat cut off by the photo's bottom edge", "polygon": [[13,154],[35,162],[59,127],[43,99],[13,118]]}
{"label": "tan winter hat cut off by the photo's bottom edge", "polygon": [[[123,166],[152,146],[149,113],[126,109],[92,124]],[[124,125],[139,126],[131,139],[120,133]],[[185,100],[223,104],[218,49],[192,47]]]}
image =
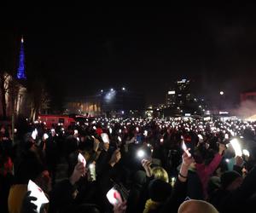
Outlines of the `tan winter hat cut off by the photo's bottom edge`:
{"label": "tan winter hat cut off by the photo's bottom edge", "polygon": [[204,200],[190,199],[179,206],[177,213],[218,213],[218,210]]}

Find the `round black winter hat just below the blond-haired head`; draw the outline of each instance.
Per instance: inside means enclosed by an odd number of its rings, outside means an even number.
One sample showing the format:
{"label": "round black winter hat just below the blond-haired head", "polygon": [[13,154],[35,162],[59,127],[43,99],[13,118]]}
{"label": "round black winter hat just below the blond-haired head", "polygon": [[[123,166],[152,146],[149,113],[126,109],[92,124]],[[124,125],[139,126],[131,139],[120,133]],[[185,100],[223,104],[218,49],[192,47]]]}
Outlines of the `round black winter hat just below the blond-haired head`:
{"label": "round black winter hat just below the blond-haired head", "polygon": [[154,179],[148,185],[149,197],[156,202],[165,202],[172,193],[172,186],[166,181]]}

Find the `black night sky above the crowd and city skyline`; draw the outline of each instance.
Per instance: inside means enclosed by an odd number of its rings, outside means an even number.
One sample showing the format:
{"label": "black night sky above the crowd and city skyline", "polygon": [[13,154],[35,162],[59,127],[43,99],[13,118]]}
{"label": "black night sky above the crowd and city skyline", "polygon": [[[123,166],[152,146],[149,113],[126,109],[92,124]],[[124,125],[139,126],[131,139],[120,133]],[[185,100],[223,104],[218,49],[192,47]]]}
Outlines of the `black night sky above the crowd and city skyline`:
{"label": "black night sky above the crowd and city skyline", "polygon": [[24,35],[26,63],[41,67],[27,72],[47,73],[70,94],[124,85],[158,103],[173,81],[191,78],[196,94],[214,101],[222,89],[231,102],[256,88],[255,9],[2,8],[1,26]]}

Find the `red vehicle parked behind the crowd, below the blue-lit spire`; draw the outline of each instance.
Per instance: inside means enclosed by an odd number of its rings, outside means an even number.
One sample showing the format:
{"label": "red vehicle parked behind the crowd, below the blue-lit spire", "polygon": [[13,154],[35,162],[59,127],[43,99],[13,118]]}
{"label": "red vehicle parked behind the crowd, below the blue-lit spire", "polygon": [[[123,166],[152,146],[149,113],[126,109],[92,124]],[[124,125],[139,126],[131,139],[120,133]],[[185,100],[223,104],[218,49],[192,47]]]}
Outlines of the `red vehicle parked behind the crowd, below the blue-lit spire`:
{"label": "red vehicle parked behind the crowd, below the blue-lit spire", "polygon": [[76,120],[68,115],[38,115],[38,121],[45,123],[48,129],[58,124],[62,124],[67,129],[69,125],[76,123]]}

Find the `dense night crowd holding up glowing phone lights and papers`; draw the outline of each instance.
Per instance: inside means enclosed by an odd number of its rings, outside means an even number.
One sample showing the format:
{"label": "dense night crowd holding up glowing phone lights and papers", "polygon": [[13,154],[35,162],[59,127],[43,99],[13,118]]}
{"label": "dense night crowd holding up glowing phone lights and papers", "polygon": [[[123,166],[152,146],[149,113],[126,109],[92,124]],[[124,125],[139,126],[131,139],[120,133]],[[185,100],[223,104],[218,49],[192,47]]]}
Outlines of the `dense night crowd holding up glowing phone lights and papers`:
{"label": "dense night crowd holding up glowing phone lights and papers", "polygon": [[[93,118],[67,130],[23,122],[12,141],[3,125],[0,212],[253,212],[255,130],[239,119]],[[29,181],[49,202],[38,207]]]}

